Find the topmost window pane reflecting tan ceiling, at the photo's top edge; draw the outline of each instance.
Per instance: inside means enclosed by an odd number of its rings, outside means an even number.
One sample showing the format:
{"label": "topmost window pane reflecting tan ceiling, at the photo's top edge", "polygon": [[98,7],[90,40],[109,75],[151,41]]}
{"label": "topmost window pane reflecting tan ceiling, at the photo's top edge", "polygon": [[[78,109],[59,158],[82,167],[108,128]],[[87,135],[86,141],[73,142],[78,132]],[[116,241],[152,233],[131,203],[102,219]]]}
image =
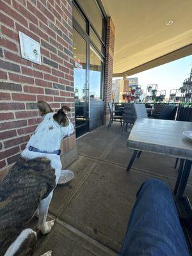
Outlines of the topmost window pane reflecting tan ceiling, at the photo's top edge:
{"label": "topmost window pane reflecting tan ceiling, at the photo's top edge", "polygon": [[81,7],[83,8],[85,14],[88,16],[93,24],[93,27],[97,31],[98,35],[102,40],[105,39],[105,28],[106,22],[102,13],[100,12],[99,6],[95,0],[79,0]]}

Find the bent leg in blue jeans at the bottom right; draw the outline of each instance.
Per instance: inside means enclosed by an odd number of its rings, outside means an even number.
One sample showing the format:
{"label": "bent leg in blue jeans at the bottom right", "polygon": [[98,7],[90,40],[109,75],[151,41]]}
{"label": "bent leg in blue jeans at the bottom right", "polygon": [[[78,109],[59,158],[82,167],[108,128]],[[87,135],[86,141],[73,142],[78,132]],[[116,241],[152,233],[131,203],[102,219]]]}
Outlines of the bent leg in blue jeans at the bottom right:
{"label": "bent leg in blue jeans at the bottom right", "polygon": [[189,256],[170,188],[149,179],[139,189],[120,256]]}

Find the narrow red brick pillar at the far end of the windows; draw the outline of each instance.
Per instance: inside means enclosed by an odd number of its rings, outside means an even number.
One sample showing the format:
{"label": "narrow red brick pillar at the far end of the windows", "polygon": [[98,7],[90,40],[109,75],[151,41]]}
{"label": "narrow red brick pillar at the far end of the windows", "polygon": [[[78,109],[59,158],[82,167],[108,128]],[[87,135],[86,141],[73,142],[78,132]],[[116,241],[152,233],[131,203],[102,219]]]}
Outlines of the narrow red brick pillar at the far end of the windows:
{"label": "narrow red brick pillar at the far end of the windows", "polygon": [[108,18],[107,38],[106,38],[106,72],[105,72],[105,91],[104,108],[105,115],[109,115],[108,102],[111,102],[111,89],[113,78],[113,54],[115,45],[115,26],[111,17]]}

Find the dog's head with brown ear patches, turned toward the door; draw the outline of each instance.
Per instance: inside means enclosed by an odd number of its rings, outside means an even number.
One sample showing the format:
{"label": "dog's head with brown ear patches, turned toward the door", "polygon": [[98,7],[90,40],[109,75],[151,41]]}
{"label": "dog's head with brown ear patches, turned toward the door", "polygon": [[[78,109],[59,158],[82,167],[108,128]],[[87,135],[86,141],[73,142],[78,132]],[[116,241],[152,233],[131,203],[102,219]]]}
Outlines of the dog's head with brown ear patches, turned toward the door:
{"label": "dog's head with brown ear patches, turned toward the door", "polygon": [[61,138],[69,136],[74,132],[74,126],[71,124],[65,111],[70,111],[68,106],[63,106],[57,113],[53,113],[47,102],[38,101],[37,107],[46,122],[47,129],[60,129]]}

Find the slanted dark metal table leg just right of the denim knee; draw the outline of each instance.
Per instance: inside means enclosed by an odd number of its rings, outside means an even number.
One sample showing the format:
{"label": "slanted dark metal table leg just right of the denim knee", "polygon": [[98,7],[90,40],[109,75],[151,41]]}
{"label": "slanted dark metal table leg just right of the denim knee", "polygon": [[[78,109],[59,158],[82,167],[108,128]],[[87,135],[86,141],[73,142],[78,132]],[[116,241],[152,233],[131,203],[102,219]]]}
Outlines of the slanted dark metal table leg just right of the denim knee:
{"label": "slanted dark metal table leg just right of the denim knee", "polygon": [[191,171],[191,164],[192,164],[191,160],[186,160],[186,162],[184,164],[184,168],[183,168],[181,176],[180,176],[179,186],[178,186],[177,192],[175,194],[177,199],[182,198],[182,196],[184,194],[186,184],[187,184],[188,178],[189,178],[189,173]]}

